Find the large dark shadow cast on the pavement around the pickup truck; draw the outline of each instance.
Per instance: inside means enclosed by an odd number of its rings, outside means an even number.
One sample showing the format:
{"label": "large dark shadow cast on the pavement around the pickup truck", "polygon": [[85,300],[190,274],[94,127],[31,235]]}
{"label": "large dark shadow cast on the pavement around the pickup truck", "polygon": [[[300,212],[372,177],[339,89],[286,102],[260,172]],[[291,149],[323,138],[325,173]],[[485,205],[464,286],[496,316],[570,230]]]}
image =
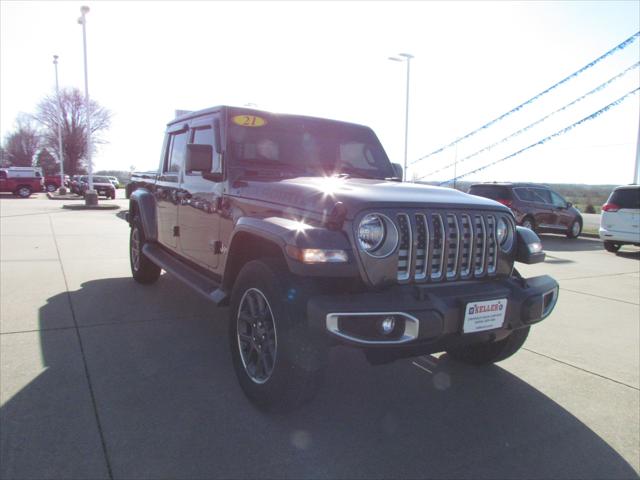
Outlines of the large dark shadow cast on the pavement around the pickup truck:
{"label": "large dark shadow cast on the pavement around the pickup truck", "polygon": [[[48,329],[69,300],[79,329]],[[535,388],[446,355],[426,374],[340,347],[312,403],[261,413],[237,384],[226,314],[167,276],[49,298],[44,369],[1,409],[0,477],[637,477]]]}

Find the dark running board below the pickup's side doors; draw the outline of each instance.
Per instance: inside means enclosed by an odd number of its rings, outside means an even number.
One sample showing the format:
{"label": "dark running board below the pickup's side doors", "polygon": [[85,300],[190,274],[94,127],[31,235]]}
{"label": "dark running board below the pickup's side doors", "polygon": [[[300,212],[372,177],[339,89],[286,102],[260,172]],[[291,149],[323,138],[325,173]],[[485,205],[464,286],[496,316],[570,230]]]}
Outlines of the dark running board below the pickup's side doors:
{"label": "dark running board below the pickup's side doors", "polygon": [[167,271],[182,283],[185,283],[200,295],[215,303],[217,306],[227,304],[228,296],[220,288],[219,283],[195,271],[193,268],[160,248],[159,245],[147,243],[142,247],[142,253],[144,253],[149,260],[160,268]]}

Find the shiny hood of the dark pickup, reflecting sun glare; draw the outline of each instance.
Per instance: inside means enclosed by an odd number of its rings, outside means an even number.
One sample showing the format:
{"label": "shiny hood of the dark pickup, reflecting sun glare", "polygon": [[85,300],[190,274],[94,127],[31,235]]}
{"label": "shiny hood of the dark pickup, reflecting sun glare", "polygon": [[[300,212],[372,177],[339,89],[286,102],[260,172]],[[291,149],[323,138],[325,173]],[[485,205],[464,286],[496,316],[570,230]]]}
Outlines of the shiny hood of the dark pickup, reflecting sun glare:
{"label": "shiny hood of the dark pickup, reflecting sun glare", "polygon": [[231,188],[231,195],[282,206],[322,213],[336,202],[347,207],[347,217],[365,208],[447,207],[464,209],[509,209],[488,198],[458,190],[416,183],[338,177],[298,177],[286,180],[242,180]]}

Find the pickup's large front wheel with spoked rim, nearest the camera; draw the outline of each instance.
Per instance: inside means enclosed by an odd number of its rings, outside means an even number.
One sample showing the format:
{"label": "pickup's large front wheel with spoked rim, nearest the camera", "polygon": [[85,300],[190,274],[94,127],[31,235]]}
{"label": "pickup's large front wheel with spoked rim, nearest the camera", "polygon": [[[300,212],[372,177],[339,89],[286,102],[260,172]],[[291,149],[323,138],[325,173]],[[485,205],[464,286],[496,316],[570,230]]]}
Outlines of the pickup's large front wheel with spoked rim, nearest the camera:
{"label": "pickup's large front wheel with spoked rim, nearest the camera", "polygon": [[245,395],[266,411],[293,410],[322,384],[327,348],[308,328],[307,294],[294,278],[276,259],[254,260],[231,293],[233,366]]}

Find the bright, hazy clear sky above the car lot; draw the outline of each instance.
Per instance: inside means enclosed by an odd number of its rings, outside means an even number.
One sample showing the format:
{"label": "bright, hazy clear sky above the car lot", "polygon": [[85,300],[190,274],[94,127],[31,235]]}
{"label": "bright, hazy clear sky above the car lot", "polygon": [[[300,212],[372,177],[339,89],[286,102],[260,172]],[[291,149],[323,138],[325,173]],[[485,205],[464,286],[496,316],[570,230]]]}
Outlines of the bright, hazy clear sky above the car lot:
{"label": "bright, hazy clear sky above the car lot", "polygon": [[[416,159],[480,127],[640,30],[638,1],[554,2],[0,2],[0,134],[55,85],[89,90],[113,112],[97,169],[155,169],[176,109],[244,105],[363,123],[392,161]],[[472,139],[413,163],[425,175],[500,140],[640,61],[640,41]],[[636,68],[603,91],[499,147],[458,174],[564,128],[640,85]],[[633,179],[640,95],[509,161],[482,181],[624,184]],[[425,180],[448,180],[453,168]]]}

